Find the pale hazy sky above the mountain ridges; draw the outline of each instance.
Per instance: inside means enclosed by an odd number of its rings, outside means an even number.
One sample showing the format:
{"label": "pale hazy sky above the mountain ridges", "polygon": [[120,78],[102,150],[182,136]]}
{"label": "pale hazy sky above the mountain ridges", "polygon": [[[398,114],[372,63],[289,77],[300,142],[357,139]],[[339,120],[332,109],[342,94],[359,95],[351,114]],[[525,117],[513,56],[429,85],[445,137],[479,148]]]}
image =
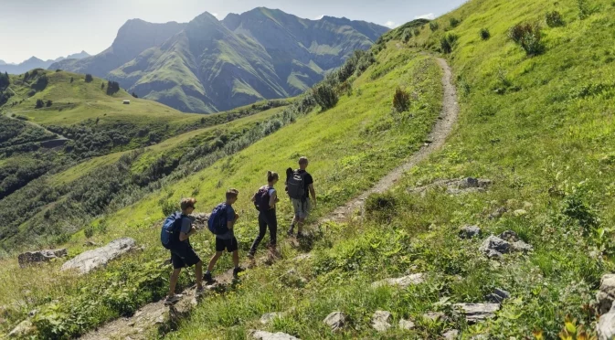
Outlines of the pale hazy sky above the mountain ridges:
{"label": "pale hazy sky above the mountain ridges", "polygon": [[126,20],[188,22],[203,12],[223,19],[258,6],[295,16],[345,16],[397,27],[419,16],[440,16],[464,0],[0,0],[0,59],[21,62],[111,46]]}

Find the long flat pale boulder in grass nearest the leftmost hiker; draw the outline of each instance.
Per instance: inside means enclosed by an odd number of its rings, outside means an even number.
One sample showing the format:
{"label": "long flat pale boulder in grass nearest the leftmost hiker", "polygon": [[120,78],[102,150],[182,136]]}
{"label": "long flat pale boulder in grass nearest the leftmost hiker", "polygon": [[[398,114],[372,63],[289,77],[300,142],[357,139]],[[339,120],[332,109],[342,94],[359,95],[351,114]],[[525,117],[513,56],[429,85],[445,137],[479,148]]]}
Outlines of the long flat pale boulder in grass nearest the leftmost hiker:
{"label": "long flat pale boulder in grass nearest the leftmost hiker", "polygon": [[80,255],[76,256],[74,259],[66,261],[62,265],[61,270],[75,270],[79,271],[81,274],[88,273],[132,250],[135,243],[135,240],[131,238],[116,239],[104,247],[80,253]]}

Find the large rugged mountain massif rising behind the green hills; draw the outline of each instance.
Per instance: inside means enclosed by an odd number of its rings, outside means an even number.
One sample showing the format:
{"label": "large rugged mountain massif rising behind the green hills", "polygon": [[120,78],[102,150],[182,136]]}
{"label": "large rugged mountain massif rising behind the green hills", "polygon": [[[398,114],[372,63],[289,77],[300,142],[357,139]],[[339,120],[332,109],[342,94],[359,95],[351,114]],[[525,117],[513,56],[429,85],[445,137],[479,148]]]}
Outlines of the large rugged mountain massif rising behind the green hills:
{"label": "large rugged mountain massif rising behind the green hills", "polygon": [[264,7],[224,20],[206,12],[186,24],[133,19],[100,54],[62,60],[49,69],[115,80],[182,112],[220,112],[302,93],[387,30]]}

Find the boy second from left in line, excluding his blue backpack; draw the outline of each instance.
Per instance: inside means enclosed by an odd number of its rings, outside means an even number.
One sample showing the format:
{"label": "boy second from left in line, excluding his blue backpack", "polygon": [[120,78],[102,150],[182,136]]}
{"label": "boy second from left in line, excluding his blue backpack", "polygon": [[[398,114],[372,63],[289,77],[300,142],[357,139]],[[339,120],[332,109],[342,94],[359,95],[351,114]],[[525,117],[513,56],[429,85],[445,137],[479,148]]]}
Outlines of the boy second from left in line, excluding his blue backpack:
{"label": "boy second from left in line, excluding his blue backpack", "polygon": [[205,272],[205,281],[213,282],[214,279],[212,277],[211,271],[214,270],[216,266],[217,259],[222,256],[222,252],[227,250],[228,252],[233,253],[233,264],[235,264],[235,270],[233,270],[233,275],[236,275],[243,271],[239,268],[239,243],[235,238],[235,233],[233,232],[233,227],[235,226],[235,222],[239,219],[239,215],[235,213],[235,209],[233,209],[233,204],[237,202],[237,198],[239,196],[239,191],[237,189],[228,189],[227,191],[227,227],[228,232],[222,235],[216,235],[216,254],[209,260],[209,266],[207,266],[207,271]]}

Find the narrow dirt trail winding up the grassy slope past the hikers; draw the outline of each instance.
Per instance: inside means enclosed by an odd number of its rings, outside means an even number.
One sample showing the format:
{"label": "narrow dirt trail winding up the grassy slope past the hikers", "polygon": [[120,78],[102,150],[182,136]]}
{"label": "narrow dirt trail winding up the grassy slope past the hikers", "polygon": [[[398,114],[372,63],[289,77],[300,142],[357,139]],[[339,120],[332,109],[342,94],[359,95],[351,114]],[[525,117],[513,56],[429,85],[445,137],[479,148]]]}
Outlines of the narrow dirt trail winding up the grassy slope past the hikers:
{"label": "narrow dirt trail winding up the grassy slope past the hikers", "polygon": [[[446,138],[452,131],[454,123],[457,121],[459,105],[457,102],[457,91],[452,84],[451,68],[443,58],[436,58],[436,61],[440,69],[442,69],[441,81],[444,89],[444,97],[442,100],[442,111],[440,112],[438,121],[427,137],[428,142],[421,146],[419,151],[413,154],[405,164],[398,166],[383,177],[376,186],[351,200],[345,206],[338,207],[327,218],[322,218],[320,222],[327,220],[343,221],[346,218],[350,218],[357,209],[363,208],[366,197],[374,193],[385,192],[387,189],[391,188],[404,173],[408,172],[408,170],[428,157],[429,154],[434,153],[444,145]],[[267,258],[266,261],[269,262],[278,260],[275,258],[275,255],[271,253],[267,255]],[[215,285],[208,286],[207,288],[218,292],[226,291],[234,282],[232,270],[221,273],[217,276],[216,281]],[[98,330],[83,335],[81,339],[146,339],[151,335],[148,331],[153,331],[156,328],[168,331],[169,324],[175,324],[178,319],[188,315],[190,310],[196,305],[195,287],[187,289],[183,294],[184,298],[171,308],[164,306],[162,301],[149,303],[143,306],[132,317],[117,319],[111,321],[109,324],[104,324]]]}

